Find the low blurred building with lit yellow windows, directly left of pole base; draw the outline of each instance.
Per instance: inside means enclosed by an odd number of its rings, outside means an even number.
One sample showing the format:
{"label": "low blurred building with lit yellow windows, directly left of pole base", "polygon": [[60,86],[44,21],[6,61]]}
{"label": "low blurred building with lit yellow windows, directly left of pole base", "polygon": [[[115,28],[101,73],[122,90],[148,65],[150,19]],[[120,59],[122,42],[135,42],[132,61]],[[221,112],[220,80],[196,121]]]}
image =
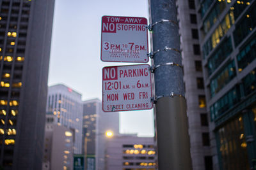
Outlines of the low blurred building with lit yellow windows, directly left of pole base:
{"label": "low blurred building with lit yellow windows, directly left of pole base", "polygon": [[120,135],[106,143],[106,170],[156,169],[154,138]]}

